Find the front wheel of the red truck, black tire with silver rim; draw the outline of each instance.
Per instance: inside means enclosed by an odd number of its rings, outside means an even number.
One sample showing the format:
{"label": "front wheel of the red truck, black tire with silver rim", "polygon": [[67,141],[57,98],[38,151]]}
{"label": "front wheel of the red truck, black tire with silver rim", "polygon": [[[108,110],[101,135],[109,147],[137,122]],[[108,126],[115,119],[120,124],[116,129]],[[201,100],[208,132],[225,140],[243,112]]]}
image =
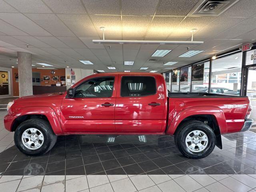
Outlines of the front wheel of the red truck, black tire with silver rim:
{"label": "front wheel of the red truck, black tire with silver rim", "polygon": [[[30,130],[38,130],[38,131],[35,134],[33,134],[32,132],[30,132]],[[30,136],[30,138],[33,134],[32,139],[35,140],[36,143],[37,143],[37,140],[35,137],[37,137],[39,139],[38,145],[34,144],[34,146],[33,146],[33,143],[32,143],[30,146],[28,146],[31,149],[26,147],[25,146],[26,141],[30,140],[33,142],[33,140],[31,140],[29,138],[28,139],[22,138],[22,136],[25,136],[26,133],[28,136]],[[34,135],[36,135],[36,136],[34,136]],[[20,150],[20,152],[22,152],[26,155],[29,155],[29,156],[40,156],[40,155],[47,153],[54,146],[54,144],[56,143],[56,140],[57,140],[57,136],[52,131],[52,128],[51,128],[49,122],[42,118],[29,119],[29,120],[22,122],[17,127],[17,129],[15,130],[15,133],[14,133],[14,143],[15,143],[16,147],[18,148],[18,150]],[[36,148],[36,147],[38,147],[38,148]]]}

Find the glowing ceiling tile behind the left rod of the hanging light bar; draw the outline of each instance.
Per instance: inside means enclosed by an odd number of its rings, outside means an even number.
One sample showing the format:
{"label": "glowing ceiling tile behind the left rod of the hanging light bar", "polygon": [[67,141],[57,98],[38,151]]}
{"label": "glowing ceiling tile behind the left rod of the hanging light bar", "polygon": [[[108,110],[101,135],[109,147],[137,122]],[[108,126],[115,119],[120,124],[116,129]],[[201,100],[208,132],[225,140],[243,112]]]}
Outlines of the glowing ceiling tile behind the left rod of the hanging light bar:
{"label": "glowing ceiling tile behind the left rod of the hanging light bar", "polygon": [[104,26],[105,38],[121,38],[122,37],[122,26],[121,17],[112,15],[91,15],[92,22],[94,23],[98,34],[103,38],[103,32],[100,27]]}

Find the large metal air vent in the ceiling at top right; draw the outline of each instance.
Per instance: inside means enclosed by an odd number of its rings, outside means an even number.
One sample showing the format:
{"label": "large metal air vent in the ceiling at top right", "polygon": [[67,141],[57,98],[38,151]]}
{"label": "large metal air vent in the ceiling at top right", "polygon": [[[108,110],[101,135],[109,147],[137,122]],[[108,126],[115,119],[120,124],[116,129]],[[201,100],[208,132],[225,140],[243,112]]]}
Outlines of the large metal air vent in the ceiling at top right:
{"label": "large metal air vent in the ceiling at top right", "polygon": [[190,11],[189,16],[219,16],[239,0],[201,0]]}

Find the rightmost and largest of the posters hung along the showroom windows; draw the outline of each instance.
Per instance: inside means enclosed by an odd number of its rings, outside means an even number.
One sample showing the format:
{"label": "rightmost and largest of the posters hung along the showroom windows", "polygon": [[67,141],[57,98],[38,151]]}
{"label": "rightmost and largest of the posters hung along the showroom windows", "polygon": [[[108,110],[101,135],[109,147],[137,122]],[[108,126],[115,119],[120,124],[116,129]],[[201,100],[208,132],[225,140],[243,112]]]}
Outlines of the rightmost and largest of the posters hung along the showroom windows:
{"label": "rightmost and largest of the posters hung along the showroom windows", "polygon": [[204,84],[204,63],[192,65],[191,83],[192,85]]}

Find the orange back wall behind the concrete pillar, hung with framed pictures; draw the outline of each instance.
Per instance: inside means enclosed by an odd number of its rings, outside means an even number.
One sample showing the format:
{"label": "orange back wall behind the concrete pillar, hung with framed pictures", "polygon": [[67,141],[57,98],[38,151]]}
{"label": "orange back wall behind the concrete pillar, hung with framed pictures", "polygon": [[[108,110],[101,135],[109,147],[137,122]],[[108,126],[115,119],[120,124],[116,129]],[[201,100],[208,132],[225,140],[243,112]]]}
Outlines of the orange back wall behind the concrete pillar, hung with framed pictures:
{"label": "orange back wall behind the concrete pillar, hung with framed pictures", "polygon": [[[32,72],[38,72],[40,73],[40,80],[43,78],[43,76],[50,76],[50,79],[52,79],[52,76],[59,76],[59,80],[49,80],[49,81],[41,81],[41,86],[56,84],[60,81],[60,76],[65,76],[65,69],[54,69],[55,74],[50,73],[51,69],[36,69],[32,68]],[[13,90],[13,96],[19,96],[19,83],[16,82],[15,76],[18,74],[18,68],[12,68],[12,90]],[[32,81],[32,79],[31,79]],[[47,82],[47,83],[45,83]]]}

